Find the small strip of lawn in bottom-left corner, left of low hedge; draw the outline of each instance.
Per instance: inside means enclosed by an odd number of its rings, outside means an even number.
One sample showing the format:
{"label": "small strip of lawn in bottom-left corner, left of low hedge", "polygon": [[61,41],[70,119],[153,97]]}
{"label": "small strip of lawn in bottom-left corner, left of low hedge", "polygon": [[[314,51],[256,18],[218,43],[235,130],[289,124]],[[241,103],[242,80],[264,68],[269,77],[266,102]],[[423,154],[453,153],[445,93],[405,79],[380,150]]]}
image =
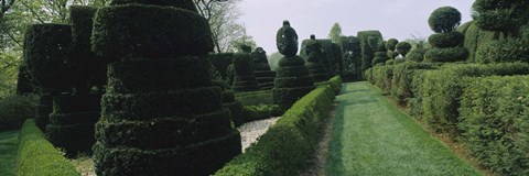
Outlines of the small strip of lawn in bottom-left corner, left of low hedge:
{"label": "small strip of lawn in bottom-left corner, left of low hedge", "polygon": [[19,131],[0,132],[0,176],[17,175]]}

